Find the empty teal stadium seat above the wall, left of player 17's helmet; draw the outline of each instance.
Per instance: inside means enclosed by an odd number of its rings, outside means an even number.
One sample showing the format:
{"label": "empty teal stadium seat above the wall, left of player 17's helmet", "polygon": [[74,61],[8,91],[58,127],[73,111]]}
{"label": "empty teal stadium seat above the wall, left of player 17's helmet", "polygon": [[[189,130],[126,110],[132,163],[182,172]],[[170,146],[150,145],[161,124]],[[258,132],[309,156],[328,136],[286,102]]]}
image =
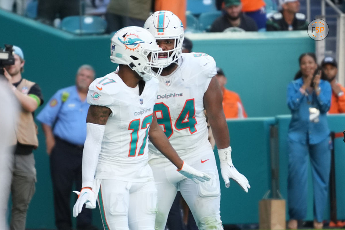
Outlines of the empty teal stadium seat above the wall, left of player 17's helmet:
{"label": "empty teal stadium seat above the wall, left of player 17's helmet", "polygon": [[61,29],[75,34],[103,34],[107,22],[98,16],[69,16],[61,21]]}

